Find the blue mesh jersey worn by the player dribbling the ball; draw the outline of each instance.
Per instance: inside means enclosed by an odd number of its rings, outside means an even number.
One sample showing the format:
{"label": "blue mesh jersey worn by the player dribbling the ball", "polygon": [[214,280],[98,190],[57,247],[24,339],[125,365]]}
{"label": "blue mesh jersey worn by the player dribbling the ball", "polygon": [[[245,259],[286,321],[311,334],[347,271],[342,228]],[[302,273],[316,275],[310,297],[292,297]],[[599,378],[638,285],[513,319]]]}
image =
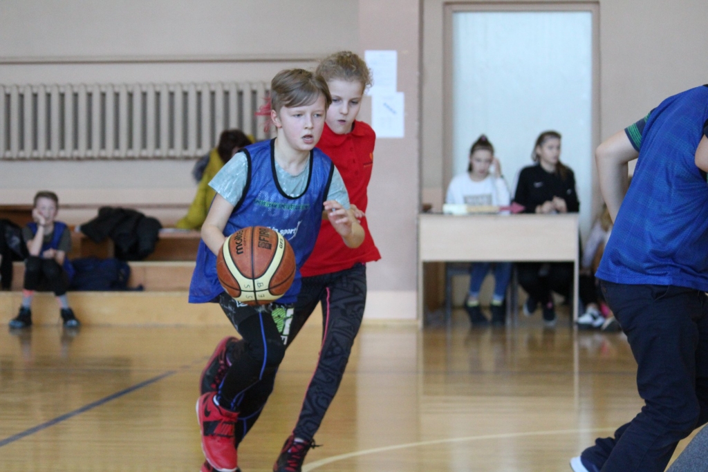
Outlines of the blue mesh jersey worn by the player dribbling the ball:
{"label": "blue mesh jersey worn by the player dribbling the ball", "polygon": [[[278,303],[295,302],[300,289],[300,267],[312,253],[319,234],[322,210],[334,172],[332,161],[322,151],[310,151],[309,181],[301,195],[287,195],[275,177],[274,139],[263,141],[243,150],[249,159],[246,190],[234,207],[224,228],[224,236],[248,226],[268,226],[275,229],[295,252],[295,280]],[[212,301],[224,292],[217,277],[217,256],[200,241],[197,265],[189,287],[190,303]]]}

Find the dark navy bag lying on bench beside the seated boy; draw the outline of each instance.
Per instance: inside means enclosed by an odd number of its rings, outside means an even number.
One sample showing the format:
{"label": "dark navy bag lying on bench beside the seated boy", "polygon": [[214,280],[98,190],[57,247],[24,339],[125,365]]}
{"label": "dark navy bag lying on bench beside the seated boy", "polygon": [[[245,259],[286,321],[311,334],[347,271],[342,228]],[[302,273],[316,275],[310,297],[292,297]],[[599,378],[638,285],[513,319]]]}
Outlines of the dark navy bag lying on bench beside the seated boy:
{"label": "dark navy bag lying on bench beside the seated boy", "polygon": [[72,260],[74,279],[71,290],[127,290],[130,265],[116,258]]}

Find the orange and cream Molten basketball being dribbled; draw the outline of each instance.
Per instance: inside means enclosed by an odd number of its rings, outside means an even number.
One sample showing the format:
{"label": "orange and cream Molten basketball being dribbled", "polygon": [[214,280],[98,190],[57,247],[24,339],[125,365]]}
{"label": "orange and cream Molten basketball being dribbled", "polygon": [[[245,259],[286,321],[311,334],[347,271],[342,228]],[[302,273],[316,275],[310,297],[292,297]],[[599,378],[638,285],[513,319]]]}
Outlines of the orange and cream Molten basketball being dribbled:
{"label": "orange and cream Molten basketball being dribbled", "polygon": [[224,290],[249,305],[267,305],[282,297],[295,280],[295,252],[274,229],[249,226],[224,241],[217,255]]}

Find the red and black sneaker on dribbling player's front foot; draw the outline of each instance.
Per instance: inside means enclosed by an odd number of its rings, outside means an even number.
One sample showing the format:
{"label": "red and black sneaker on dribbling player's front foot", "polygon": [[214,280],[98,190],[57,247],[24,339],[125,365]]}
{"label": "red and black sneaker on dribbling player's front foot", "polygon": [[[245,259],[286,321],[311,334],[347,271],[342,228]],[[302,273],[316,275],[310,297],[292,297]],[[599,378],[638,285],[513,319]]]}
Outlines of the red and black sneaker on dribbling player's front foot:
{"label": "red and black sneaker on dribbling player's front foot", "polygon": [[197,401],[202,452],[207,462],[217,471],[236,472],[239,466],[234,430],[239,413],[217,405],[215,396],[216,392],[207,392]]}

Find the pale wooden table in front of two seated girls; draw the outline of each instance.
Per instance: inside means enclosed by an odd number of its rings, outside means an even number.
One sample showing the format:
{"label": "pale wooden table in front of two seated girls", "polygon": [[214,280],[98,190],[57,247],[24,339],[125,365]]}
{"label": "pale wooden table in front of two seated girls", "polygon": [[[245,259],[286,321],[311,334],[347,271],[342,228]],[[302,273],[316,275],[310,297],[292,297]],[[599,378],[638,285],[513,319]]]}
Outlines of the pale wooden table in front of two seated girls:
{"label": "pale wooden table in front of two seated girls", "polygon": [[578,319],[578,214],[418,215],[418,321],[423,323],[423,263],[572,262]]}

